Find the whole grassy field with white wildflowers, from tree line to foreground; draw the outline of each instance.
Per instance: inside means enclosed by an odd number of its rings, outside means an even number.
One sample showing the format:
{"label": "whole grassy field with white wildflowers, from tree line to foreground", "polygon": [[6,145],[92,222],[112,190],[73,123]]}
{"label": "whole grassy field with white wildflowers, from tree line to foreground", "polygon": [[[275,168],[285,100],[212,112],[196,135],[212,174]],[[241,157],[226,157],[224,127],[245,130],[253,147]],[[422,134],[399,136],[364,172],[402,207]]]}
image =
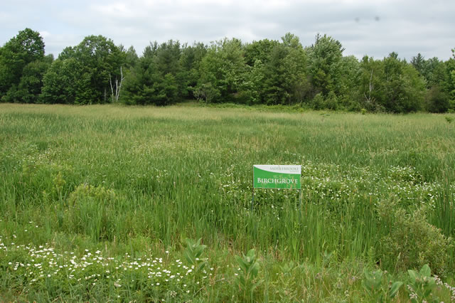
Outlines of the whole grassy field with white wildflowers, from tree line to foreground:
{"label": "whole grassy field with white wildflowers, from tree line to foreground", "polygon": [[0,300],[455,301],[451,119],[0,104]]}

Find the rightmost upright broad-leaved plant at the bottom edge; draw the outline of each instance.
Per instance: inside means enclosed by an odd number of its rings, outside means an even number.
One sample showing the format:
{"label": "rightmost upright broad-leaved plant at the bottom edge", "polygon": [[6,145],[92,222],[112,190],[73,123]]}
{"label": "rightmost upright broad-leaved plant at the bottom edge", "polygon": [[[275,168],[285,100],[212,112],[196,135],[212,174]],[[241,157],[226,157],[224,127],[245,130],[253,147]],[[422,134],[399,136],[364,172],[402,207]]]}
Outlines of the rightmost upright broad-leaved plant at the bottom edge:
{"label": "rightmost upright broad-leaved plant at the bottom edge", "polygon": [[410,284],[407,289],[410,292],[411,302],[439,302],[439,298],[432,294],[436,287],[436,278],[432,277],[432,271],[425,264],[420,272],[415,270],[407,271],[410,275]]}

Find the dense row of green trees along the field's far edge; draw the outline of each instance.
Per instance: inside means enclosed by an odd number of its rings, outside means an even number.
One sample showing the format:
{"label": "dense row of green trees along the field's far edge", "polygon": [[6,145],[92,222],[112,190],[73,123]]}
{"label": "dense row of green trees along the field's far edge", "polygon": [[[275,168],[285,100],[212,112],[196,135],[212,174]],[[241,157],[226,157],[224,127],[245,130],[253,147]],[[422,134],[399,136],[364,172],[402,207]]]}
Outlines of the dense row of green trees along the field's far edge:
{"label": "dense row of green trees along the field's far edge", "polygon": [[26,28],[0,48],[1,102],[171,105],[183,100],[299,105],[315,110],[455,110],[455,50],[449,60],[410,62],[343,55],[340,41],[317,35],[311,46],[281,41],[205,45],[150,43],[141,56],[104,36],[87,36],[58,58]]}

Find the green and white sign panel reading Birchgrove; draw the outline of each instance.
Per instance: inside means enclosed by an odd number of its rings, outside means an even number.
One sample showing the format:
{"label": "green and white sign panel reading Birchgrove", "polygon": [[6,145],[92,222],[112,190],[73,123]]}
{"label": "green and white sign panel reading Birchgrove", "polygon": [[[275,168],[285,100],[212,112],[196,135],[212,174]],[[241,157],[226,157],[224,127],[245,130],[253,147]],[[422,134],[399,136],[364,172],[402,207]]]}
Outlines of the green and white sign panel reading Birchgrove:
{"label": "green and white sign panel reading Birchgrove", "polygon": [[300,165],[253,165],[253,188],[300,189]]}

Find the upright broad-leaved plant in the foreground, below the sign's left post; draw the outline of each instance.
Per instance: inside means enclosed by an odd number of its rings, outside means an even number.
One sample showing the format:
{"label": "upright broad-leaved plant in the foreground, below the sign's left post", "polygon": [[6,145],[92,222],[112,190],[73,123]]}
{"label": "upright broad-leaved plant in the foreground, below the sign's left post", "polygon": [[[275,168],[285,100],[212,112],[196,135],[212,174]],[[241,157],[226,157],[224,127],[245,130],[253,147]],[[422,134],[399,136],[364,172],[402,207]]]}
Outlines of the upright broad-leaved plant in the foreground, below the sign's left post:
{"label": "upright broad-leaved plant in the foreground, below the sign's left post", "polygon": [[247,294],[250,294],[252,299],[252,294],[256,287],[263,282],[262,280],[256,280],[259,272],[259,262],[257,262],[255,250],[249,250],[247,255],[243,255],[243,257],[236,255],[235,260],[240,266],[240,273],[237,274],[235,279],[236,284],[243,290],[245,299]]}

